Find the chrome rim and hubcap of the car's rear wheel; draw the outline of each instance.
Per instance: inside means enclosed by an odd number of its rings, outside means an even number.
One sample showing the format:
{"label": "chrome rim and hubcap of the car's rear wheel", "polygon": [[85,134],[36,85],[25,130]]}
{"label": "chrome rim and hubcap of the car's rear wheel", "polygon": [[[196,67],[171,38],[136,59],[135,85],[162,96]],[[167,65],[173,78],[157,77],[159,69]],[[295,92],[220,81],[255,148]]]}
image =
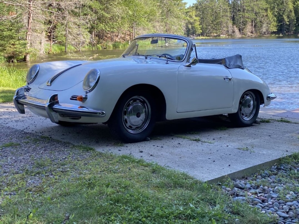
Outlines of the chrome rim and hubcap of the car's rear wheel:
{"label": "chrome rim and hubcap of the car's rear wheel", "polygon": [[257,100],[254,93],[250,91],[244,93],[239,102],[239,113],[241,117],[245,121],[250,120],[254,116],[256,108]]}

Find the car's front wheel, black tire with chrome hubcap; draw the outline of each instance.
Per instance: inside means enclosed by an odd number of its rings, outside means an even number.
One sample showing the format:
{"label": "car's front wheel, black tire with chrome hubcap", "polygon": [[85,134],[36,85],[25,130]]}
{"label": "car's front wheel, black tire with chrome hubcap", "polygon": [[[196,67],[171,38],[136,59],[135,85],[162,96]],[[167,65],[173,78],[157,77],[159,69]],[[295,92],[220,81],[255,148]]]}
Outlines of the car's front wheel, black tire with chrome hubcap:
{"label": "car's front wheel, black tire with chrome hubcap", "polygon": [[140,142],[152,132],[156,112],[155,100],[147,91],[132,90],[118,101],[108,127],[112,134],[124,142]]}

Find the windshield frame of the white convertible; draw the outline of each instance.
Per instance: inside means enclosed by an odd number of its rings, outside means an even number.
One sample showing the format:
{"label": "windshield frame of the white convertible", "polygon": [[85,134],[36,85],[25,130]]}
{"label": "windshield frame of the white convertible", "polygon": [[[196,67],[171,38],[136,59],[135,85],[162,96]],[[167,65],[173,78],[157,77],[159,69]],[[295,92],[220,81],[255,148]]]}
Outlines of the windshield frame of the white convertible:
{"label": "windshield frame of the white convertible", "polygon": [[[167,58],[163,58],[163,57],[157,57],[159,54],[132,54],[132,51],[136,48],[136,44],[134,45],[134,42],[136,42],[138,39],[141,40],[145,40],[145,39],[154,39],[154,38],[167,38],[167,39],[173,39],[173,40],[181,40],[184,43],[186,43],[186,47],[185,48],[185,52],[184,52],[184,57],[181,60],[173,60],[170,57]],[[155,58],[155,59],[161,59],[161,60],[166,60],[169,62],[183,62],[186,60],[186,58],[188,57],[188,50],[190,47],[190,42],[187,38],[183,37],[183,36],[178,36],[178,35],[167,35],[167,34],[145,34],[145,35],[141,35],[138,36],[136,38],[134,38],[131,42],[131,44],[126,48],[126,50],[122,53],[121,57],[129,57],[129,56],[139,56],[139,57],[145,57],[145,59],[147,58]],[[129,50],[131,48],[131,50]],[[150,48],[150,47],[149,47]],[[135,53],[137,53],[138,50],[138,46],[137,49],[135,50]],[[127,51],[130,52],[130,54],[127,54]],[[156,57],[155,57],[156,55]]]}

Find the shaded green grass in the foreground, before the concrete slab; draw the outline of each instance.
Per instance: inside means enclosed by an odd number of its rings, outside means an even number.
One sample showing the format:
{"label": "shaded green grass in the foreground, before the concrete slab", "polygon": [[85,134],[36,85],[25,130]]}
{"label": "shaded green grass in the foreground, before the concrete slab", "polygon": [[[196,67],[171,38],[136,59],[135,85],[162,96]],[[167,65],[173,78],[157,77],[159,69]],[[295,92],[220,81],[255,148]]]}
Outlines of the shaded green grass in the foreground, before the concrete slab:
{"label": "shaded green grass in the foreground, before the concrete slab", "polygon": [[[1,175],[0,223],[273,223],[219,186],[135,157],[79,148],[79,159],[44,157]],[[33,179],[39,184],[28,184]]]}

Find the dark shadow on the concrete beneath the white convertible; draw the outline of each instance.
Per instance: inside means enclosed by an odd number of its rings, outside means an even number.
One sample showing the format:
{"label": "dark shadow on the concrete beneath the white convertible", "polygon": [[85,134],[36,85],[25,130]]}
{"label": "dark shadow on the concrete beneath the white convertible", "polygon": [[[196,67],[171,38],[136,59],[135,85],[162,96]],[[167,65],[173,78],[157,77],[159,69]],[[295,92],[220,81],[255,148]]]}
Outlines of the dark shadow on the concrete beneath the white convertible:
{"label": "dark shadow on the concrete beneath the white convertible", "polygon": [[[184,138],[184,136],[188,136],[187,138],[198,138],[199,135],[207,134],[210,131],[224,131],[233,127],[225,116],[169,120],[157,122],[149,138],[151,140],[167,140],[172,137]],[[110,133],[108,126],[103,124],[74,125],[69,127],[53,124],[49,128],[39,128],[38,125],[36,128],[37,134],[58,138],[74,144],[98,145],[99,147],[126,144],[121,143],[119,139]]]}

